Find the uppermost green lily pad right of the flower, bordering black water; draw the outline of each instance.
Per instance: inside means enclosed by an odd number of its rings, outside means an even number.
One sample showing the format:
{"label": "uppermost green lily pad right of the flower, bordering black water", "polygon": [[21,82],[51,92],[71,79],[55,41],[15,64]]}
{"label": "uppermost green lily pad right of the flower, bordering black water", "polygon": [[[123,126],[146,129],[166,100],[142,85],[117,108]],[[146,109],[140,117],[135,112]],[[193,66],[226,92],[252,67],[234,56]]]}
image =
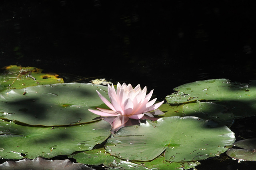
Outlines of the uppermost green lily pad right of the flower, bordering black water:
{"label": "uppermost green lily pad right of the flower, bordering black water", "polygon": [[[234,114],[233,119],[255,115],[256,81],[242,84],[227,79],[212,79],[187,83],[175,90],[176,93],[166,96],[166,101],[172,105],[208,101],[227,107],[229,113]],[[205,105],[204,109],[210,110],[211,106],[208,106]],[[226,119],[225,116],[223,119]]]}

